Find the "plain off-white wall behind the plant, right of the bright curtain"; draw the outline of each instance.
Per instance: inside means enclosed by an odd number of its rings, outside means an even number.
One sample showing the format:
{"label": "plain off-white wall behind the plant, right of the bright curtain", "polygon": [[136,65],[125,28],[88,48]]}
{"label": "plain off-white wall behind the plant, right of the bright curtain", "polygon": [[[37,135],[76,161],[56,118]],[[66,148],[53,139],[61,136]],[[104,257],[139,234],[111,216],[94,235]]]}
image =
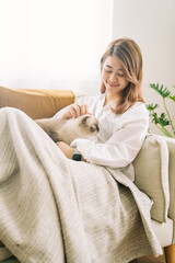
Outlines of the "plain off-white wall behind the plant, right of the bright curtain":
{"label": "plain off-white wall behind the plant, right of the bright curtain", "polygon": [[[175,94],[175,0],[114,0],[113,38],[122,36],[133,38],[142,50],[145,102],[161,106],[149,83],[164,84]],[[168,102],[175,121],[175,103]],[[159,133],[154,125],[151,129]]]}

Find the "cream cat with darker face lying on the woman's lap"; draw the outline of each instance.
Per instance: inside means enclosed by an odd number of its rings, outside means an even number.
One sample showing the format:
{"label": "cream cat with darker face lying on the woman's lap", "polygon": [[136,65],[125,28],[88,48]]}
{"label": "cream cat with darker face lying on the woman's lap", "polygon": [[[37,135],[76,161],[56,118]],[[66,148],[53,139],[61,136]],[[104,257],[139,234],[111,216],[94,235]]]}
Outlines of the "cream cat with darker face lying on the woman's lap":
{"label": "cream cat with darker face lying on the woman's lap", "polygon": [[77,138],[91,138],[100,130],[98,121],[90,114],[77,118],[40,118],[35,122],[54,141],[61,140],[68,145]]}

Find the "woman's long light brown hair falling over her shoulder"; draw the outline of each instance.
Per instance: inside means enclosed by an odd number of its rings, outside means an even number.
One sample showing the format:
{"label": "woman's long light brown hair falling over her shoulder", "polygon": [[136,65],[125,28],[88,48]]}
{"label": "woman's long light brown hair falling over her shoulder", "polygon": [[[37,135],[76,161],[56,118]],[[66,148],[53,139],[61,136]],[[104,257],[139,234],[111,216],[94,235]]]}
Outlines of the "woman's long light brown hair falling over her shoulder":
{"label": "woman's long light brown hair falling over her shoulder", "polygon": [[[101,71],[107,57],[117,57],[122,65],[122,70],[128,85],[119,93],[115,107],[116,114],[124,113],[136,102],[144,102],[141,93],[142,55],[139,46],[130,38],[119,38],[112,42],[101,58]],[[105,93],[106,87],[102,81],[101,92]]]}

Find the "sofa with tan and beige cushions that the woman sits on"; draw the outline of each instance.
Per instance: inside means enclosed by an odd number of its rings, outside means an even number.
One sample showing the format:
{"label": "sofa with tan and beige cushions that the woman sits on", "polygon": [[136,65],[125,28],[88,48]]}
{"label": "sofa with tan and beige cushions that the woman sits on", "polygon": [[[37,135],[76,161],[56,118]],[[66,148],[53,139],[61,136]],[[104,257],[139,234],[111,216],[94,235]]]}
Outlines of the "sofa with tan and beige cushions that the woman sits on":
{"label": "sofa with tan and beige cushions that the woman sits on", "polygon": [[[74,100],[71,90],[0,87],[0,107],[16,107],[33,119],[51,117]],[[152,199],[152,227],[164,250],[166,263],[175,263],[175,139],[148,134],[133,167],[135,184]],[[0,241],[0,262],[11,256]]]}

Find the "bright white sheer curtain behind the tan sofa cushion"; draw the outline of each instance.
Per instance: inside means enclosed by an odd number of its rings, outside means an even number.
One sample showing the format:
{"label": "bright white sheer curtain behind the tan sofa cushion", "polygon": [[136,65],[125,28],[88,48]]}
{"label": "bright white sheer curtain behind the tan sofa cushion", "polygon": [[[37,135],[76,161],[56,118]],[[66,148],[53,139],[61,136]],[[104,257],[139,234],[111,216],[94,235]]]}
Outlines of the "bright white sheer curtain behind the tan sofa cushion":
{"label": "bright white sheer curtain behind the tan sofa cushion", "polygon": [[0,0],[0,85],[97,93],[113,0]]}

